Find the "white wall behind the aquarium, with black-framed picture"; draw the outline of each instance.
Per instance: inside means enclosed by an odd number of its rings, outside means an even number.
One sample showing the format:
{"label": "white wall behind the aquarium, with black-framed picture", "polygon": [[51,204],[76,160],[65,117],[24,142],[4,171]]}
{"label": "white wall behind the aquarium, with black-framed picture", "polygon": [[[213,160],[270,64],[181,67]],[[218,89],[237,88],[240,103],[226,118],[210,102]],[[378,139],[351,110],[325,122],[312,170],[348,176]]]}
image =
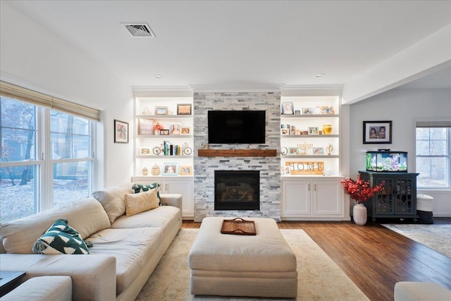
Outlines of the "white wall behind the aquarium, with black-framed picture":
{"label": "white wall behind the aquarium, with black-framed picture", "polygon": [[[415,124],[419,120],[451,120],[451,90],[395,89],[350,105],[350,176],[364,171],[368,150],[408,152],[407,170],[415,172]],[[364,145],[362,121],[393,121],[391,145]],[[419,190],[434,197],[433,215],[451,216],[451,191]]]}

